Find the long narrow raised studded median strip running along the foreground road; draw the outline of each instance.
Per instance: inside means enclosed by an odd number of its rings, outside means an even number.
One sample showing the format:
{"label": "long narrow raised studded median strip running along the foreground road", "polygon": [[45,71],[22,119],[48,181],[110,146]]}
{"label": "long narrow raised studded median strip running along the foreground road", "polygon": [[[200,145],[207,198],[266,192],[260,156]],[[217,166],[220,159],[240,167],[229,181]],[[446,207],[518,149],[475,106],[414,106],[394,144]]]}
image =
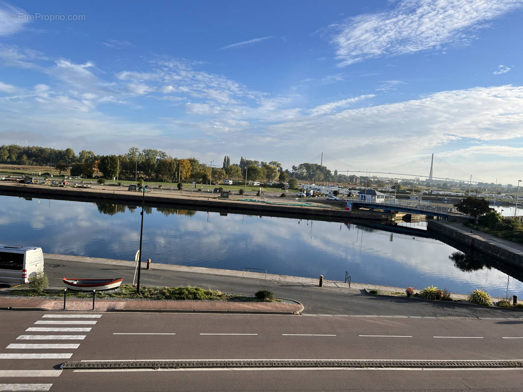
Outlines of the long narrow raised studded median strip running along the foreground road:
{"label": "long narrow raised studded median strip running along the foreground road", "polygon": [[63,369],[163,369],[238,367],[477,368],[523,367],[523,360],[170,360],[65,362]]}

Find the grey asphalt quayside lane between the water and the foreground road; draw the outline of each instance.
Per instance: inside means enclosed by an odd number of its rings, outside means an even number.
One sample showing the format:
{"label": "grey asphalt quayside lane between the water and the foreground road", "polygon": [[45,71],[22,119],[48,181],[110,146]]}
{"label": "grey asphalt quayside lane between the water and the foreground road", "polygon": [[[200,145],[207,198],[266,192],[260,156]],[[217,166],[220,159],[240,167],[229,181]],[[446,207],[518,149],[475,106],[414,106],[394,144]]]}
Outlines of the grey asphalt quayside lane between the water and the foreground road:
{"label": "grey asphalt quayside lane between the water and the foreground road", "polygon": [[[145,265],[145,264],[144,264]],[[331,289],[276,280],[242,278],[204,273],[155,269],[141,271],[142,285],[199,286],[227,293],[254,294],[268,289],[277,297],[295,299],[304,306],[304,314],[401,315],[429,317],[522,317],[520,310],[461,305],[452,302],[423,302],[407,298],[372,296],[359,290]],[[113,264],[46,259],[50,285],[63,286],[62,278],[99,278],[123,276],[132,282],[134,268]]]}

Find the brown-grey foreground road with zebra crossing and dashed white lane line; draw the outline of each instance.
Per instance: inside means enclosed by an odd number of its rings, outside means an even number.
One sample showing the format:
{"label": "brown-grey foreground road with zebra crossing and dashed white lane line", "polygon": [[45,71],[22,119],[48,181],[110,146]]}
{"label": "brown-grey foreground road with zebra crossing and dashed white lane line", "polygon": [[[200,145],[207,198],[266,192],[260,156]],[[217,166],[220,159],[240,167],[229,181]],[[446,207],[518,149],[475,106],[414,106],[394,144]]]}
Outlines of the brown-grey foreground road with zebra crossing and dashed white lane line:
{"label": "brown-grey foreground road with zebra crossing and dashed white lane line", "polygon": [[522,369],[59,366],[91,360],[521,360],[522,325],[473,318],[4,311],[0,391],[522,390]]}

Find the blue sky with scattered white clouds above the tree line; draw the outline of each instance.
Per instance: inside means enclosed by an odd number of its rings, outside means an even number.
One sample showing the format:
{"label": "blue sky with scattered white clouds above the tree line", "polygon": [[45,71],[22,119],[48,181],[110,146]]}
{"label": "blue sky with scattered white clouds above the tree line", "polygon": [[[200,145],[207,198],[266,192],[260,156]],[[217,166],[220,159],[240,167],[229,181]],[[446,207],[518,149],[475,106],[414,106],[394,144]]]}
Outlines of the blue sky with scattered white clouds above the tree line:
{"label": "blue sky with scattered white clouds above the tree line", "polygon": [[0,1],[0,144],[426,176],[435,154],[435,177],[515,185],[521,20],[523,0]]}

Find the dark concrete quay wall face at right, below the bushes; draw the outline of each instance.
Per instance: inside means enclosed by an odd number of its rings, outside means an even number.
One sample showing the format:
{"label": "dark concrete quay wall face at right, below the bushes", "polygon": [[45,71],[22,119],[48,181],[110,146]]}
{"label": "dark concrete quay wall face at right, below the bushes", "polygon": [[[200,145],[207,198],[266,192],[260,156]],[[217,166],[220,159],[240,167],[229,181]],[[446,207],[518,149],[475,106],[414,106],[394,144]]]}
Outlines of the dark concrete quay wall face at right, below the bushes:
{"label": "dark concrete quay wall face at right, below the bushes", "polygon": [[456,227],[438,221],[429,221],[427,232],[442,242],[465,253],[472,253],[477,257],[477,253],[480,252],[488,257],[492,257],[513,266],[523,267],[523,252],[515,249],[508,249],[510,248],[509,244],[507,244],[507,247],[505,248],[487,238],[482,238],[481,236],[472,233],[466,233],[463,230],[459,230]]}

